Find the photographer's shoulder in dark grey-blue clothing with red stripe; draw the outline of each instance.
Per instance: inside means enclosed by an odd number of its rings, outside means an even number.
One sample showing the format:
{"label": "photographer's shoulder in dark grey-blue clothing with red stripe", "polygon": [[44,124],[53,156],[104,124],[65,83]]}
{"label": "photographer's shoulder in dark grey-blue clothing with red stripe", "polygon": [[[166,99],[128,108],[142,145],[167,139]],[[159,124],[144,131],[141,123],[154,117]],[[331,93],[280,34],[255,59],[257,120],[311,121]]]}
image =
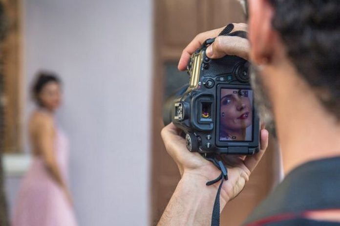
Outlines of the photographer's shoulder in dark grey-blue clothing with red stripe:
{"label": "photographer's shoulder in dark grey-blue clothing with red stripe", "polygon": [[340,157],[334,157],[297,167],[255,208],[245,225],[289,226],[299,225],[294,221],[304,221],[309,226],[315,222],[303,219],[305,216],[301,213],[340,209],[340,173],[335,173],[339,172],[339,166]]}

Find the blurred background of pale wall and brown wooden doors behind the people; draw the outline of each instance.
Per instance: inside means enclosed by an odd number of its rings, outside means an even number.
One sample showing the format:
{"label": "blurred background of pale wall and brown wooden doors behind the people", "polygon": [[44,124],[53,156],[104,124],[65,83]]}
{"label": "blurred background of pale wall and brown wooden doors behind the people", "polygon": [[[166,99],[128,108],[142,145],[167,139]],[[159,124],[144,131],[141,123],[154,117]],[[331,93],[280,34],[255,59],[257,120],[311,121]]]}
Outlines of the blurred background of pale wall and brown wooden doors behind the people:
{"label": "blurred background of pale wall and brown wooden doors behind the people", "polygon": [[[81,226],[155,225],[179,180],[160,138],[162,104],[200,32],[245,22],[237,0],[2,0],[0,131],[8,214],[32,157],[27,121],[39,70],[60,75],[56,118],[70,140],[69,179]],[[222,213],[236,226],[277,183],[275,142]],[[1,210],[2,211],[2,210]]]}

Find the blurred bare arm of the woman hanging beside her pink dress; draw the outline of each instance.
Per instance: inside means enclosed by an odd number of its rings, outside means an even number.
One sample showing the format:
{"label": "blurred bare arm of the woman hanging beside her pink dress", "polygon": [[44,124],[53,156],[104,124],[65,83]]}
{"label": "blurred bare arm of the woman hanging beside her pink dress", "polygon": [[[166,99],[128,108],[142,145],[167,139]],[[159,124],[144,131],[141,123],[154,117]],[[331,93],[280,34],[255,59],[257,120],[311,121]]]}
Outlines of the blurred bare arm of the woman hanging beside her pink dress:
{"label": "blurred bare arm of the woman hanging beside her pink dress", "polygon": [[71,195],[68,191],[64,178],[57,164],[54,154],[55,148],[55,128],[53,119],[47,115],[39,115],[36,121],[37,126],[37,148],[40,151],[46,169],[51,175],[52,179],[63,189],[66,198],[72,203]]}

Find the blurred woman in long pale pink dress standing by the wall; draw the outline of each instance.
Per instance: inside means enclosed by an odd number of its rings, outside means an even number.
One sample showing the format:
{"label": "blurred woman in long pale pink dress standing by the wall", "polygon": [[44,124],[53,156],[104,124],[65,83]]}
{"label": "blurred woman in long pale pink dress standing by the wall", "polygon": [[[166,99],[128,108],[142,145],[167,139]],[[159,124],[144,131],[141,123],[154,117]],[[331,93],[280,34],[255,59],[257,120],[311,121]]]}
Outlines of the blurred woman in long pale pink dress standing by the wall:
{"label": "blurred woman in long pale pink dress standing by the wall", "polygon": [[29,120],[34,159],[21,183],[13,226],[76,226],[66,185],[68,142],[54,118],[62,100],[61,81],[40,73],[32,93],[38,105]]}

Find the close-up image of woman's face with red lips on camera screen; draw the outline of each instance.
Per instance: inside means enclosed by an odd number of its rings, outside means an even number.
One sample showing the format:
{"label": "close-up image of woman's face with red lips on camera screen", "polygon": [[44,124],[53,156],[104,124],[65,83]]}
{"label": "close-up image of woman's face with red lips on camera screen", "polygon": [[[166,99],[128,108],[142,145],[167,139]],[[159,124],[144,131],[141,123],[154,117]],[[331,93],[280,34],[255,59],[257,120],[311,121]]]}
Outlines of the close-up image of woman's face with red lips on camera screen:
{"label": "close-up image of woman's face with red lips on camera screen", "polygon": [[221,89],[220,141],[252,141],[253,91]]}

